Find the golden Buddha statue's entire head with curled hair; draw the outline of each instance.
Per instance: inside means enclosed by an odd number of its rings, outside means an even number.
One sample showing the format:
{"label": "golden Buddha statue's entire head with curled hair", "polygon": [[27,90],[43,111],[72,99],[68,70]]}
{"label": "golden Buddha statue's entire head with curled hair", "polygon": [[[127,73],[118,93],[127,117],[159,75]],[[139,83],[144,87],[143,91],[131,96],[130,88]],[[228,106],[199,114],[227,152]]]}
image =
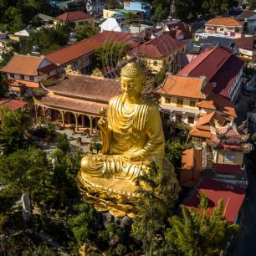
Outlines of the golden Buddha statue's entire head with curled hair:
{"label": "golden Buddha statue's entire head with curled hair", "polygon": [[126,64],[120,72],[121,90],[128,100],[138,100],[145,83],[145,71],[140,64]]}

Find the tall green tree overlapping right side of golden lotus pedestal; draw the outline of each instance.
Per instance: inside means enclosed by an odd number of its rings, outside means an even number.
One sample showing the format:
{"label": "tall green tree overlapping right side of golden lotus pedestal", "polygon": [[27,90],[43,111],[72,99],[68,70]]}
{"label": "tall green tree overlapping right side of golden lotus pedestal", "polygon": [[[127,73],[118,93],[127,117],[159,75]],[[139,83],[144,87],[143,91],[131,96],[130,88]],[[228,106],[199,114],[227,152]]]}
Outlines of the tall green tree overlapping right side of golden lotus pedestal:
{"label": "tall green tree overlapping right side of golden lotus pedestal", "polygon": [[141,241],[146,255],[156,250],[156,234],[161,232],[166,210],[177,200],[178,186],[175,180],[164,176],[156,163],[152,162],[144,175],[136,178],[141,197],[136,203],[138,213],[132,224],[132,236]]}

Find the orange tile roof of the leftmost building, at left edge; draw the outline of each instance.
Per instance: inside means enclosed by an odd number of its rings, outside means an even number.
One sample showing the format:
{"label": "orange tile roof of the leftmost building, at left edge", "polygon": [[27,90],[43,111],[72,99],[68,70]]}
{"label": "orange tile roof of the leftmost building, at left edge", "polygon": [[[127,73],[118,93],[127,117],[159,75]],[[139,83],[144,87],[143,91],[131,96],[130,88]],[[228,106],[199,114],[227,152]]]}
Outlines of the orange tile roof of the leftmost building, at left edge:
{"label": "orange tile roof of the leftmost building, at left edge", "polygon": [[44,57],[14,54],[8,64],[0,69],[4,73],[23,74],[23,75],[38,75],[38,66],[43,61]]}

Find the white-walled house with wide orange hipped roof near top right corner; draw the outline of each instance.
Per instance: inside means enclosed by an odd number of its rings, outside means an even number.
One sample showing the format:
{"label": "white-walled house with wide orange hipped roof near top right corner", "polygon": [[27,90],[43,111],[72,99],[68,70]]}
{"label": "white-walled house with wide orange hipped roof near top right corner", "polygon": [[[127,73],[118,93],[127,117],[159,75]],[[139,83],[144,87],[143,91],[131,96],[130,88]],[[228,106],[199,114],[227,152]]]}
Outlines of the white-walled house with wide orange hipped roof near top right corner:
{"label": "white-walled house with wide orange hipped roof near top right corner", "polygon": [[205,24],[206,32],[214,33],[243,33],[243,22],[233,17],[212,18]]}

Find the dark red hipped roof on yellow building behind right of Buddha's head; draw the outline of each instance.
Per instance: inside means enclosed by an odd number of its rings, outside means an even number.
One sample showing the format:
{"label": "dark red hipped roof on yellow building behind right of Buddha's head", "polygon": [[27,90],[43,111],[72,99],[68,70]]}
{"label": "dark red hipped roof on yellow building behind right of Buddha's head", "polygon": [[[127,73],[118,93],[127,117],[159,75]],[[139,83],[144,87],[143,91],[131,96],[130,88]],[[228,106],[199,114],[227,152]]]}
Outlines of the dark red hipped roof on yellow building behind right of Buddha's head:
{"label": "dark red hipped roof on yellow building behind right of Buddha's head", "polygon": [[166,57],[169,54],[172,54],[177,49],[182,49],[186,44],[182,41],[178,41],[172,38],[170,35],[163,33],[161,36],[151,39],[145,44],[141,44],[135,49],[128,51],[127,54],[135,55],[141,54],[147,58],[162,58]]}

